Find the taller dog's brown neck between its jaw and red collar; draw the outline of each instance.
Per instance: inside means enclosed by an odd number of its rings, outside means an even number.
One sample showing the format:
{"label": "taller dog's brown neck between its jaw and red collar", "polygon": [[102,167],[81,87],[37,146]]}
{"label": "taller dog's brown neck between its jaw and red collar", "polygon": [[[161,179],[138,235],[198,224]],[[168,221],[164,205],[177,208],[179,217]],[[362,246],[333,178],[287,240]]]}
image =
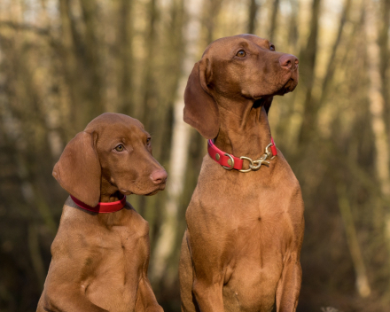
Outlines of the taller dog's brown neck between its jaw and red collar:
{"label": "taller dog's brown neck between its jaw and red collar", "polygon": [[220,130],[214,144],[223,152],[236,157],[259,158],[271,142],[269,121],[263,106],[253,105],[253,100],[217,101]]}

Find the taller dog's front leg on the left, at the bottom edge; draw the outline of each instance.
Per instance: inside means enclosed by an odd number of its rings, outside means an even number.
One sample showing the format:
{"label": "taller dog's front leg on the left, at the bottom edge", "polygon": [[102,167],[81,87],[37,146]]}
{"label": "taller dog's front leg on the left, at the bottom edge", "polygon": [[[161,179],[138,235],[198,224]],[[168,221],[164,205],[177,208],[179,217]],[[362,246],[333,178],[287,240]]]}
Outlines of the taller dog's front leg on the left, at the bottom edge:
{"label": "taller dog's front leg on the left, at the bottom edge", "polygon": [[223,312],[223,297],[221,283],[210,283],[195,277],[192,292],[198,302],[201,312]]}

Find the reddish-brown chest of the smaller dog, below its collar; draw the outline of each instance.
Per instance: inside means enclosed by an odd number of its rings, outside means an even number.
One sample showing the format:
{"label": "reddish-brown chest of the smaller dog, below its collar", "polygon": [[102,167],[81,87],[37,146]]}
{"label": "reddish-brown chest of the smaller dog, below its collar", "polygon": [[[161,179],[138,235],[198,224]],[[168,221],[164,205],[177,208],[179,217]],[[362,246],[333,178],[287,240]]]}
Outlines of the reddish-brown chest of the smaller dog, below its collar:
{"label": "reddish-brown chest of the smaller dog, below its collar", "polygon": [[109,228],[92,218],[96,215],[88,214],[87,225],[74,216],[61,220],[48,278],[66,274],[98,307],[118,312],[135,307],[140,273],[149,259],[148,225],[134,210],[123,213],[123,222]]}

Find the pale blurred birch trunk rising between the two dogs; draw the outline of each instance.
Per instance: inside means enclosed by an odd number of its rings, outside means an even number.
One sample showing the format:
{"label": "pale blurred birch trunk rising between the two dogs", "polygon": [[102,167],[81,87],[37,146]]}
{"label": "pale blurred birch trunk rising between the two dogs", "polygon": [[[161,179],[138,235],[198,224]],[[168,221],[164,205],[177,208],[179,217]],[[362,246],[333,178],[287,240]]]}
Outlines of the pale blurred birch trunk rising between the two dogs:
{"label": "pale blurred birch trunk rising between the two dogs", "polygon": [[[183,75],[179,82],[177,98],[174,104],[174,126],[169,161],[165,215],[153,256],[155,261],[152,261],[152,275],[157,280],[160,280],[164,275],[164,271],[168,267],[168,258],[174,252],[175,248],[177,214],[180,198],[183,193],[190,141],[190,127],[183,121],[183,94],[188,76],[191,74],[192,67],[197,61],[197,43],[200,35],[199,12],[202,7],[202,1],[190,0],[184,4],[187,6],[186,12],[189,15],[189,21],[184,30],[184,38],[187,40],[185,43],[186,52],[183,58]],[[165,281],[166,284],[170,282],[172,281]]]}

